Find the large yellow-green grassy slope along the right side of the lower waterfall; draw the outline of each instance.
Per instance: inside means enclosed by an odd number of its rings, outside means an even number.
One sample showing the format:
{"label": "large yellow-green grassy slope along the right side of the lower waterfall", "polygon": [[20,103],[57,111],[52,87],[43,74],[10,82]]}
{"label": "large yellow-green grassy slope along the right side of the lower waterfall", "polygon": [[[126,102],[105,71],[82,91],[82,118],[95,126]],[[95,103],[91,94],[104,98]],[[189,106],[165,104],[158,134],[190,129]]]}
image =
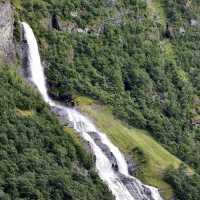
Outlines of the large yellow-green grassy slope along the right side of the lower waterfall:
{"label": "large yellow-green grassy slope along the right side of the lower waterfall", "polygon": [[[181,161],[157,143],[148,132],[129,128],[114,118],[111,111],[103,106],[82,106],[81,111],[94,120],[97,127],[104,131],[121,151],[131,154],[137,161],[139,149],[145,162],[139,163],[143,170],[138,174],[144,183],[156,186],[161,190],[165,199],[173,196],[172,188],[163,180],[163,173],[170,166],[178,168]],[[136,157],[137,155],[137,157]]]}

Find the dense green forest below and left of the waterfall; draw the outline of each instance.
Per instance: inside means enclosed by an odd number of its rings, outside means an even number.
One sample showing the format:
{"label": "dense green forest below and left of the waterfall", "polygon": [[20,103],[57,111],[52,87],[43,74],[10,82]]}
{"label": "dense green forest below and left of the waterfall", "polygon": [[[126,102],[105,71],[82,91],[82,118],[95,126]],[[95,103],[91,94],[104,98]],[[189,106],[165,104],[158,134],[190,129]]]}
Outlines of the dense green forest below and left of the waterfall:
{"label": "dense green forest below and left of the waterfall", "polygon": [[0,67],[0,199],[113,199],[38,93]]}

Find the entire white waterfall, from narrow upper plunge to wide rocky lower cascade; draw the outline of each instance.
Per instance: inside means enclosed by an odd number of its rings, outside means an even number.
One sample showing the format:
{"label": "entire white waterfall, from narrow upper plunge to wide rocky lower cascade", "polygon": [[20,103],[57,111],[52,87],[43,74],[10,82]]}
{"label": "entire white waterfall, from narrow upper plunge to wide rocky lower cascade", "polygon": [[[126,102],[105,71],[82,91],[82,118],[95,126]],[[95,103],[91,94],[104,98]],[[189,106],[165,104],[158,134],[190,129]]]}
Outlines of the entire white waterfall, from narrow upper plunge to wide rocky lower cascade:
{"label": "entire white waterfall, from narrow upper plunge to wide rocky lower cascade", "polygon": [[129,175],[123,154],[87,117],[49,97],[37,40],[27,23],[22,22],[22,30],[23,41],[27,45],[26,55],[30,72],[27,78],[37,87],[45,102],[51,106],[58,117],[69,122],[70,126],[88,141],[96,157],[97,172],[116,200],[163,200],[157,188],[144,185]]}

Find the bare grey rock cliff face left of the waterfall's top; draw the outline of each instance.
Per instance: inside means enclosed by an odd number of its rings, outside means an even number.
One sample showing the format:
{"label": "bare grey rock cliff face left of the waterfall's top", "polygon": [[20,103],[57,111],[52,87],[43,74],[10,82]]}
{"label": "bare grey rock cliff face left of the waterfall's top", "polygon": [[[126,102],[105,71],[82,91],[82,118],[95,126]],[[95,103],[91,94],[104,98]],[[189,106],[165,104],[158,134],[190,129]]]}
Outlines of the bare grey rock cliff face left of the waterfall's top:
{"label": "bare grey rock cliff face left of the waterfall's top", "polygon": [[10,2],[0,2],[0,58],[6,61],[14,56],[13,23]]}

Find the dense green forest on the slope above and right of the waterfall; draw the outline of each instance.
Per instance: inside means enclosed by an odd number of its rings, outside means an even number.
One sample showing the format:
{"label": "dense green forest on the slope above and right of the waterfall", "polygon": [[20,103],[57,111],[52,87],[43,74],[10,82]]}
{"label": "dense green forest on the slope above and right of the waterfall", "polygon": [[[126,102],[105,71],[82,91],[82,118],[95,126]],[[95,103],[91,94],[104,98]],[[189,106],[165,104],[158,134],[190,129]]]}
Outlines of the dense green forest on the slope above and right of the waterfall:
{"label": "dense green forest on the slope above and right of the waterfall", "polygon": [[[66,103],[76,95],[92,97],[130,126],[148,130],[195,170],[194,176],[182,169],[166,175],[177,198],[198,199],[199,1],[12,3],[16,41],[22,20],[37,35],[49,94]],[[185,190],[187,182],[192,186]]]}

